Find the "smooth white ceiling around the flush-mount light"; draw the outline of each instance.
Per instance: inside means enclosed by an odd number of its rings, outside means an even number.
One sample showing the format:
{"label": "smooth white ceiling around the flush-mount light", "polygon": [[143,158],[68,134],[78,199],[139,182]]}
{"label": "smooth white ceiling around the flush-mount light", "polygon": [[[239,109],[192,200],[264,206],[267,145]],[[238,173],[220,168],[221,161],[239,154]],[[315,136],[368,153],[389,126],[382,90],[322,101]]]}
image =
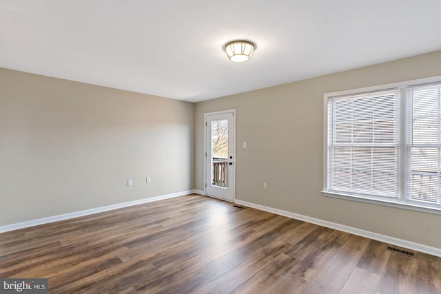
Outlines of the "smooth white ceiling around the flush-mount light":
{"label": "smooth white ceiling around the flush-mount light", "polygon": [[[0,67],[203,101],[441,50],[440,0],[0,0]],[[232,39],[257,44],[233,63]]]}

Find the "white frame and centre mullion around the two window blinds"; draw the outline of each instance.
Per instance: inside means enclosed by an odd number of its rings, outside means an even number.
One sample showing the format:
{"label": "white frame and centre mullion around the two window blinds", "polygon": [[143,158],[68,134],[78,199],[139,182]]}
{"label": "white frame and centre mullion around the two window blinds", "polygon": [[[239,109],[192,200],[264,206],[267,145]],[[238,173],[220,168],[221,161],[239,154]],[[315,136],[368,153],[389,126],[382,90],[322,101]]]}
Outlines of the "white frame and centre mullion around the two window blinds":
{"label": "white frame and centre mullion around the two window blinds", "polygon": [[[330,92],[323,94],[323,187],[322,195],[325,197],[338,198],[343,200],[351,200],[357,202],[365,202],[369,204],[378,204],[387,207],[396,207],[400,209],[409,209],[413,211],[422,211],[427,213],[441,214],[441,204],[424,204],[418,202],[409,202],[406,198],[407,185],[407,127],[408,112],[407,103],[409,103],[409,87],[418,87],[430,84],[440,84],[441,76],[433,76],[430,78],[419,78],[411,81],[403,81],[399,83],[389,83],[384,85],[376,85],[373,87],[363,87],[353,90],[344,90],[340,92]],[[345,192],[328,191],[328,101],[330,98],[338,96],[351,96],[358,94],[369,94],[371,92],[398,90],[399,112],[400,112],[400,129],[399,129],[399,147],[398,147],[398,198],[385,199],[375,196],[361,196]]]}

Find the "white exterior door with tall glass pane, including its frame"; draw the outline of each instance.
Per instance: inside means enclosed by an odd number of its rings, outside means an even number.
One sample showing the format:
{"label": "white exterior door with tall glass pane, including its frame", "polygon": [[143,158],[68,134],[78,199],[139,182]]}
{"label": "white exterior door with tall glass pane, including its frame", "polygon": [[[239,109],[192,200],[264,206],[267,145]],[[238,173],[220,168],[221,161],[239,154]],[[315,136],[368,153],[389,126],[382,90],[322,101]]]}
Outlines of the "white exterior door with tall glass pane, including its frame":
{"label": "white exterior door with tall glass pane, including its frame", "polygon": [[235,111],[205,114],[205,194],[234,201]]}

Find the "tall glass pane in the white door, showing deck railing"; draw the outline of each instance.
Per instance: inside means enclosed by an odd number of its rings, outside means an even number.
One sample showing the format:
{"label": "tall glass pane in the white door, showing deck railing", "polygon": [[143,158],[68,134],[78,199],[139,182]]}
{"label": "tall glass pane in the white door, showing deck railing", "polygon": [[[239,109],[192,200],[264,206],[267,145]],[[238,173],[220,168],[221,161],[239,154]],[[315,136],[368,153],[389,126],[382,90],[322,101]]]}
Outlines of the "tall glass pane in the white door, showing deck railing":
{"label": "tall glass pane in the white door, showing deck railing", "polygon": [[212,185],[228,187],[228,120],[212,121]]}

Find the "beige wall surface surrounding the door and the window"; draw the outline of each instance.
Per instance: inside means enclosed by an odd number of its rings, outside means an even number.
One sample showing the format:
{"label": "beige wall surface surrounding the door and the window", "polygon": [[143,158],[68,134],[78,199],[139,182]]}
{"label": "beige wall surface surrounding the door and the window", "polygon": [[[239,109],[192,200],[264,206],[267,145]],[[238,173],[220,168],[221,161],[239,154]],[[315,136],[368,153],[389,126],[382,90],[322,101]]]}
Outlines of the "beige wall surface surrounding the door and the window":
{"label": "beige wall surface surrounding the door and the window", "polygon": [[323,94],[439,75],[441,51],[197,103],[195,188],[204,189],[204,113],[236,109],[236,199],[441,248],[438,214],[320,193]]}

